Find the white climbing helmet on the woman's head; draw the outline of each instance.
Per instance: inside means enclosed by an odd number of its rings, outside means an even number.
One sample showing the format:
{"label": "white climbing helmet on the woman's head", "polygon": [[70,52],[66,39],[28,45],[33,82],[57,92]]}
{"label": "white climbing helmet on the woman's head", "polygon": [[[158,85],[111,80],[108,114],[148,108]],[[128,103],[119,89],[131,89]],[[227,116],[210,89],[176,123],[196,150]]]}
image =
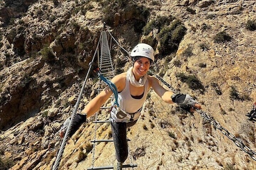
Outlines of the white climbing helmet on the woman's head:
{"label": "white climbing helmet on the woman's head", "polygon": [[132,49],[130,56],[144,56],[154,62],[154,49],[149,44],[140,43]]}

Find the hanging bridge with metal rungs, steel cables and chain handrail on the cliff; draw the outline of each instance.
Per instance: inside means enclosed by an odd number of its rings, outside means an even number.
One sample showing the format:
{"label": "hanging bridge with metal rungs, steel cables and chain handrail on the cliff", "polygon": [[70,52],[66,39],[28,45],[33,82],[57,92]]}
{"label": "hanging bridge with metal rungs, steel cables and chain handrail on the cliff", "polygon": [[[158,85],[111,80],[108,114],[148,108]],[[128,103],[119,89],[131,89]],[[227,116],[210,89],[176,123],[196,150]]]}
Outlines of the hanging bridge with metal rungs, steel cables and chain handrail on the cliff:
{"label": "hanging bridge with metal rungs, steel cables and chain handrail on the cliff", "polygon": [[[98,62],[98,67],[101,70],[102,77],[107,78],[107,79],[112,79],[113,77],[115,77],[115,69],[114,69],[114,66],[113,66],[112,56],[110,55],[110,49],[112,47],[112,41],[114,41],[117,44],[118,53],[121,50],[123,50],[127,54],[129,54],[129,52],[127,52],[126,49],[124,49],[123,47],[120,46],[118,41],[116,41],[116,39],[113,38],[113,36],[108,31],[108,29],[105,25],[104,25],[104,29],[105,30],[101,32],[100,40],[98,42],[98,46],[96,48],[96,51],[94,53],[92,61],[95,61],[96,57],[97,57],[97,59],[99,61]],[[117,53],[117,55],[118,55],[118,53]],[[82,89],[80,90],[79,97],[78,97],[76,105],[74,107],[74,111],[73,111],[73,114],[71,116],[71,121],[69,123],[68,129],[66,130],[65,137],[63,138],[62,144],[61,144],[59,152],[57,154],[57,158],[54,162],[54,165],[52,166],[52,170],[57,170],[58,167],[59,167],[59,164],[60,164],[60,161],[61,161],[61,158],[62,158],[62,155],[63,155],[63,151],[65,149],[65,145],[68,141],[68,136],[69,136],[69,133],[70,133],[70,130],[71,130],[71,124],[73,124],[74,116],[76,115],[77,108],[78,108],[80,100],[82,98],[82,94],[83,94],[85,84],[87,82],[88,75],[90,73],[91,67],[92,67],[92,65],[90,64],[87,75],[86,75],[85,80],[84,80],[84,84],[82,86]],[[173,87],[171,87],[170,84],[166,83],[166,81],[163,80],[161,77],[159,77],[158,75],[155,75],[155,77],[159,81],[161,81],[163,84],[165,84],[167,87],[169,87],[169,89],[171,89],[174,93],[177,93],[177,90],[174,89]],[[101,92],[101,90],[104,89],[105,86],[106,86],[106,83],[104,81],[102,81],[102,79],[100,78],[99,79],[99,86],[98,86],[98,93]],[[109,107],[101,107],[101,109],[109,109]],[[208,116],[207,113],[205,113],[204,111],[196,109],[196,112],[198,112],[205,120],[207,120],[211,124],[213,124],[213,126],[215,126],[216,129],[219,129],[222,132],[222,134],[226,135],[230,140],[232,140],[236,144],[236,146],[238,146],[244,152],[249,154],[252,159],[256,160],[256,152],[254,152],[254,151],[252,151],[252,149],[248,148],[243,143],[243,141],[241,141],[239,138],[235,137],[234,135],[230,134],[230,132],[227,131],[227,129],[222,127],[217,121],[215,121],[213,118]],[[98,113],[96,113],[95,115],[96,115],[95,116],[95,121],[93,121],[93,123],[96,123],[95,134],[94,134],[94,140],[91,140],[91,142],[93,143],[93,161],[92,161],[91,167],[87,168],[87,170],[91,170],[91,169],[113,169],[113,166],[94,167],[94,161],[95,161],[94,154],[95,154],[96,143],[99,143],[99,142],[113,142],[113,140],[97,140],[96,139],[96,130],[98,128],[97,124],[98,123],[108,123],[110,121],[108,121],[108,120],[107,121],[105,121],[105,120],[104,121],[99,121],[99,120],[97,120]],[[130,158],[130,161],[132,162],[132,158]],[[123,168],[134,168],[134,167],[137,167],[137,165],[134,165],[133,163],[130,163],[128,165],[123,165]]]}

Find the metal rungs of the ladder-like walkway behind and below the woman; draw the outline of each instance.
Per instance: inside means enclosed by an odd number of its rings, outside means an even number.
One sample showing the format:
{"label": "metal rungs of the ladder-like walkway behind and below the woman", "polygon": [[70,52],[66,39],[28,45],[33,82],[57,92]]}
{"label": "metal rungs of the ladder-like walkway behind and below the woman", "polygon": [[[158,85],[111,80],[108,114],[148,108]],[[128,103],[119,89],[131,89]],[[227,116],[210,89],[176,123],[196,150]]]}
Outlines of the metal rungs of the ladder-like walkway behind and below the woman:
{"label": "metal rungs of the ladder-like walkway behind and below the woman", "polygon": [[[104,31],[101,33],[100,50],[101,50],[101,55],[98,55],[99,69],[101,70],[101,73],[105,78],[107,78],[108,80],[111,80],[115,76],[115,69],[114,69],[112,57],[111,57],[111,54],[110,54],[110,46],[108,45],[107,32],[104,32]],[[104,83],[104,81],[99,79],[98,93],[101,92],[101,90],[104,89],[105,86],[106,86],[106,84]],[[110,107],[101,107],[101,109],[110,109]],[[113,142],[113,140],[96,140],[97,124],[98,123],[110,123],[109,120],[104,120],[104,121],[97,120],[97,115],[98,115],[98,113],[96,114],[96,117],[95,117],[96,121],[93,121],[93,123],[95,123],[94,140],[91,140],[91,142],[93,143],[93,163],[92,163],[92,166],[90,168],[87,168],[87,170],[113,169],[112,165],[111,166],[94,167],[94,153],[95,153],[96,144],[100,143],[100,142]],[[130,141],[130,140],[127,139],[127,141]],[[137,167],[137,165],[134,165],[134,164],[123,165],[123,168],[133,168],[133,167]]]}

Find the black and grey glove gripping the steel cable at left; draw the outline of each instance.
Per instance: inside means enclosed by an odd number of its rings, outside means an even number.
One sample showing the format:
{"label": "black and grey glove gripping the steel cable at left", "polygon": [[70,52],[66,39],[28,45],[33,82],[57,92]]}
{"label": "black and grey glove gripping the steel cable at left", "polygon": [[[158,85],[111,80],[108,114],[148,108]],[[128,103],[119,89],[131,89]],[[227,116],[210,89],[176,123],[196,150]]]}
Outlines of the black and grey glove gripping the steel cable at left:
{"label": "black and grey glove gripping the steel cable at left", "polygon": [[[82,123],[86,121],[86,116],[87,115],[82,115],[82,114],[76,114],[74,116],[73,124],[71,124],[71,129],[69,133],[69,137],[71,137],[77,129],[81,126]],[[71,121],[71,117],[68,117],[65,122],[62,124],[62,127],[60,128],[60,137],[63,138],[64,134],[66,133],[66,129],[68,129],[68,125]]]}

